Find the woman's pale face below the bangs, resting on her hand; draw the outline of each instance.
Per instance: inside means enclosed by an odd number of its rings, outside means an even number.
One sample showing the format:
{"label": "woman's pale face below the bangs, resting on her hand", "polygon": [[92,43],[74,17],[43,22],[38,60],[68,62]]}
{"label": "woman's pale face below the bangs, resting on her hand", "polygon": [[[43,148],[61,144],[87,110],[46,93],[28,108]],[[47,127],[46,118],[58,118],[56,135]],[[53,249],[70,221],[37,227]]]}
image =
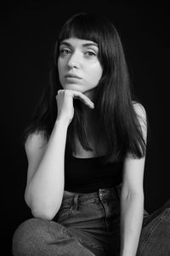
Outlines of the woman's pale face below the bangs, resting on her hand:
{"label": "woman's pale face below the bangs, resting on her hand", "polygon": [[59,81],[64,89],[78,90],[92,98],[103,68],[99,62],[98,44],[79,38],[68,38],[59,45]]}

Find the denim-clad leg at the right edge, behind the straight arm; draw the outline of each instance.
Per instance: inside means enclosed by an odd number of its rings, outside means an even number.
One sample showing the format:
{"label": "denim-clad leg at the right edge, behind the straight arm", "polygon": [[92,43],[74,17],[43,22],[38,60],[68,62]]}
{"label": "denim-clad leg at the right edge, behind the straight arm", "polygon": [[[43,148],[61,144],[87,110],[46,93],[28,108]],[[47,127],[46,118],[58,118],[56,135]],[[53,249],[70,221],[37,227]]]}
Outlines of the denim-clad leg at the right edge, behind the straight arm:
{"label": "denim-clad leg at the right edge, behind the straight arm", "polygon": [[137,256],[170,255],[170,201],[144,218]]}

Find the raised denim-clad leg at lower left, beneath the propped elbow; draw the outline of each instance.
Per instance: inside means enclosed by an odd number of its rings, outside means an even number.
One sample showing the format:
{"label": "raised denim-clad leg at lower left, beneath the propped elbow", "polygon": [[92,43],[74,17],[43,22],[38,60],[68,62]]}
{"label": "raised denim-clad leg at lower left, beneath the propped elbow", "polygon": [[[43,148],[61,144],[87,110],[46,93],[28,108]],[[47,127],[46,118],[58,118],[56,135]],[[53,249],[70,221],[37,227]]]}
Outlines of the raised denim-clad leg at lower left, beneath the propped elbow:
{"label": "raised denim-clad leg at lower left, beneath the propped elbow", "polygon": [[31,218],[13,236],[14,256],[94,256],[77,237],[54,221]]}

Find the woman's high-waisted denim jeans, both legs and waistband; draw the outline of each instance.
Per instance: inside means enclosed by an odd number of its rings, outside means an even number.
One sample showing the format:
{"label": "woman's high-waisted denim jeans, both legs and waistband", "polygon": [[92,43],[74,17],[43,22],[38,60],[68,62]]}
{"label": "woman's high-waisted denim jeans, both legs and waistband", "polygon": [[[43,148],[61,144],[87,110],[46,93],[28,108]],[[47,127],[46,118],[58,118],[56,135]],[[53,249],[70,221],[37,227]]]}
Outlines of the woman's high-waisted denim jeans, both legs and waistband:
{"label": "woman's high-waisted denim jeans, both legs and waistband", "polygon": [[[120,189],[65,191],[53,221],[31,218],[14,232],[14,256],[120,255]],[[170,255],[170,201],[144,211],[137,256]]]}

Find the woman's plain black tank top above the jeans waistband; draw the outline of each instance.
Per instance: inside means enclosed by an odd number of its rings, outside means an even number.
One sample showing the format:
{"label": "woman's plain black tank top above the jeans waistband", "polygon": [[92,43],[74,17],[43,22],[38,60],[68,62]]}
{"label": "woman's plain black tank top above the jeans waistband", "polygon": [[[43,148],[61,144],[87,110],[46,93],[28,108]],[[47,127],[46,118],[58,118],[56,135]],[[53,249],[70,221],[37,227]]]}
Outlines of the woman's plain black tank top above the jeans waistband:
{"label": "woman's plain black tank top above the jeans waistband", "polygon": [[65,190],[91,193],[122,183],[122,162],[103,164],[103,157],[65,157]]}

